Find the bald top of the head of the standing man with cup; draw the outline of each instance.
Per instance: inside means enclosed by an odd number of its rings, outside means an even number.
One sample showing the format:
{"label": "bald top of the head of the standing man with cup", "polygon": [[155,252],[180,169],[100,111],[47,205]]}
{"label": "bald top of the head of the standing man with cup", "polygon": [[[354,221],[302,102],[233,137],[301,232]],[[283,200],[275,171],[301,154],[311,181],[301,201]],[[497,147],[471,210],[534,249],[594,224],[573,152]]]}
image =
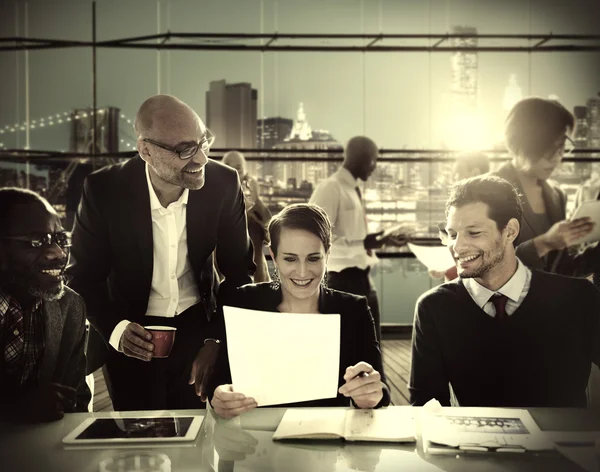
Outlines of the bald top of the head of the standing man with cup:
{"label": "bald top of the head of the standing man with cup", "polygon": [[163,128],[189,126],[190,122],[197,124],[201,129],[204,124],[196,112],[186,103],[172,95],[154,95],[148,98],[133,122],[133,128],[139,138],[149,137],[153,133],[163,133]]}

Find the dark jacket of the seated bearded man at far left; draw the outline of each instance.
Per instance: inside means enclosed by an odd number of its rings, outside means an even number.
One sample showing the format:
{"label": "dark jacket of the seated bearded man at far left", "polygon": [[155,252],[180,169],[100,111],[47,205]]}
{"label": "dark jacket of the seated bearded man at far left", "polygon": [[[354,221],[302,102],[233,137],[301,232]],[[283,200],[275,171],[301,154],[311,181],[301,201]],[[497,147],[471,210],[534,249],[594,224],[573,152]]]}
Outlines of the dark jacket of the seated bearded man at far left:
{"label": "dark jacket of the seated bearded man at far left", "polygon": [[[77,390],[76,411],[88,411],[91,399],[85,383],[85,305],[69,288],[60,300],[43,301],[44,355],[38,372],[38,385],[59,383]],[[0,374],[3,369],[0,369]],[[0,376],[0,385],[3,385]],[[18,392],[18,395],[23,392]],[[4,399],[2,398],[4,397]],[[12,392],[0,392],[0,410],[12,407]]]}

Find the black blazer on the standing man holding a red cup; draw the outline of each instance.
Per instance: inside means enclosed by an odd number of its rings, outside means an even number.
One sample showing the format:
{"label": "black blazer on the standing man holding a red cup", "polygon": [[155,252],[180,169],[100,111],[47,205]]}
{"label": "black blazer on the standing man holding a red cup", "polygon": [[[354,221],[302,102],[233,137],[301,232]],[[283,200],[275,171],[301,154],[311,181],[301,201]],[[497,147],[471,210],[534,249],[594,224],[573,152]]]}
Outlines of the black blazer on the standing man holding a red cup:
{"label": "black blazer on the standing man holding a red cup", "polygon": [[[255,266],[244,197],[235,170],[209,159],[205,184],[190,190],[188,256],[210,320],[217,290],[250,283]],[[226,277],[221,288],[213,251]],[[73,229],[70,286],[86,301],[88,319],[108,341],[124,319],[143,323],[152,282],[153,240],[145,162],[135,157],[90,174]]]}

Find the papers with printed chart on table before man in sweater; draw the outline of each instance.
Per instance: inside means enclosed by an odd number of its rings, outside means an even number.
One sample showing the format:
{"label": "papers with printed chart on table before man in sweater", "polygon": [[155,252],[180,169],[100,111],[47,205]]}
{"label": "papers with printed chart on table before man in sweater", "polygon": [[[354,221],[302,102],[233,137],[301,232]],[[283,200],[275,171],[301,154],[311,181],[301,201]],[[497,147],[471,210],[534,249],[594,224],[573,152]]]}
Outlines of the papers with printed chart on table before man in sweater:
{"label": "papers with printed chart on table before man in sweater", "polygon": [[525,452],[554,449],[527,410],[442,408],[421,417],[427,453]]}

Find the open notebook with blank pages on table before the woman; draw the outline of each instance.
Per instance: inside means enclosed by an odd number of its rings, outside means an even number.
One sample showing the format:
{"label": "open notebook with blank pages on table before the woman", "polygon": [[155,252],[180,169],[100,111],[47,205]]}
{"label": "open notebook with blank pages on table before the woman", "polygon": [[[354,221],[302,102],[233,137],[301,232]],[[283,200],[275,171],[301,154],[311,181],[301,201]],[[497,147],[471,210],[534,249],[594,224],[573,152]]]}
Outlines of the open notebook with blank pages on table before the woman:
{"label": "open notebook with blank pages on table before the woman", "polygon": [[346,441],[415,442],[413,410],[288,409],[273,439],[345,439]]}

